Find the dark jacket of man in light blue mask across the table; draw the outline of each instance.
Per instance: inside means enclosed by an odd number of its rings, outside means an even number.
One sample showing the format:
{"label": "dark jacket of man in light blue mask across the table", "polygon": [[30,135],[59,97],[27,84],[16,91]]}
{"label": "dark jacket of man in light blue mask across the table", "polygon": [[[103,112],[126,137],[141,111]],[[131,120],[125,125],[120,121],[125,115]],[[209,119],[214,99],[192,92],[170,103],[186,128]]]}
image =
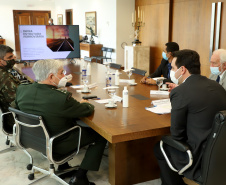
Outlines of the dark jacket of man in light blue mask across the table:
{"label": "dark jacket of man in light blue mask across the table", "polygon": [[163,75],[163,77],[166,78],[165,80],[163,80],[163,83],[172,82],[170,78],[168,78],[168,63],[169,63],[168,60],[162,59],[159,67],[155,70],[154,73],[150,74],[149,77],[155,78]]}

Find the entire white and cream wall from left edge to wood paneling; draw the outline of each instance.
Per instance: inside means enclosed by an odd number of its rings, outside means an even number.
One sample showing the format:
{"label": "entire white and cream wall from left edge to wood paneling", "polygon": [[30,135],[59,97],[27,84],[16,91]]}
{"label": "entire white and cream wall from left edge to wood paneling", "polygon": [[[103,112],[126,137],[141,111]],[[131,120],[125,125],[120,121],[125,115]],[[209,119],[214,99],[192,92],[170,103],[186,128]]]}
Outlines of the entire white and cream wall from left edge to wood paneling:
{"label": "entire white and cream wall from left edge to wood paneling", "polygon": [[73,9],[73,24],[79,25],[80,35],[85,33],[85,12],[96,11],[97,35],[96,43],[114,49],[113,62],[123,64],[124,50],[122,42],[131,45],[134,29],[131,26],[131,14],[135,8],[135,0],[0,0],[0,35],[6,44],[15,49],[13,10],[50,10],[54,24],[57,14]]}

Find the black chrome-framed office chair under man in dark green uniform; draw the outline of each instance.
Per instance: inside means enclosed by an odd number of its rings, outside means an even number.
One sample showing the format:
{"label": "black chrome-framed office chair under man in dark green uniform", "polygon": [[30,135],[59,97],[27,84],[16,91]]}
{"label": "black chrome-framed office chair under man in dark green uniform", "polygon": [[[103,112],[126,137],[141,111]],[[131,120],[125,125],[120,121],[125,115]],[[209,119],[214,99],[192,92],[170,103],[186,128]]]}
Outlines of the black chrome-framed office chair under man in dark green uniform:
{"label": "black chrome-framed office chair under man in dark green uniform", "polygon": [[[80,139],[81,139],[81,128],[79,126],[74,126],[58,135],[50,137],[41,116],[27,114],[11,107],[9,108],[9,110],[13,113],[15,123],[16,123],[17,129],[16,129],[15,135],[16,135],[17,146],[20,149],[26,151],[27,153],[28,153],[27,151],[28,148],[31,148],[33,150],[36,150],[42,153],[44,156],[46,156],[50,164],[49,170],[44,170],[42,168],[34,166],[32,162],[32,173],[28,175],[28,179],[33,180],[34,171],[38,170],[44,173],[45,176],[36,180],[33,183],[36,183],[43,178],[50,177],[50,178],[54,178],[55,180],[61,182],[64,185],[68,185],[68,183],[66,183],[64,180],[58,177],[58,175],[62,175],[72,170],[75,170],[77,167],[55,172],[54,165],[64,164],[78,154],[79,147],[80,147]],[[64,156],[57,156],[57,157],[54,156],[53,147],[54,147],[55,139],[67,134],[70,131],[74,131],[75,129],[79,130],[79,139],[78,139],[79,142],[78,142],[77,150],[71,153],[68,153]]]}

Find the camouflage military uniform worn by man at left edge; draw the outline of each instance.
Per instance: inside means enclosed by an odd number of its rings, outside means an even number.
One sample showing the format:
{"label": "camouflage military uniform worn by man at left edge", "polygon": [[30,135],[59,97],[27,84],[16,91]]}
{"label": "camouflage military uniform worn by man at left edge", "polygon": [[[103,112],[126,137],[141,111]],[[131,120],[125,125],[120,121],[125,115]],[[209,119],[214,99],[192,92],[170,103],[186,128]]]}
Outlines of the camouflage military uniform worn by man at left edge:
{"label": "camouflage military uniform worn by man at left edge", "polygon": [[[8,112],[10,103],[15,100],[16,89],[20,81],[15,78],[5,67],[0,67],[0,107],[2,112]],[[12,115],[7,115],[6,120],[9,126],[13,126]],[[11,130],[9,128],[9,130]]]}

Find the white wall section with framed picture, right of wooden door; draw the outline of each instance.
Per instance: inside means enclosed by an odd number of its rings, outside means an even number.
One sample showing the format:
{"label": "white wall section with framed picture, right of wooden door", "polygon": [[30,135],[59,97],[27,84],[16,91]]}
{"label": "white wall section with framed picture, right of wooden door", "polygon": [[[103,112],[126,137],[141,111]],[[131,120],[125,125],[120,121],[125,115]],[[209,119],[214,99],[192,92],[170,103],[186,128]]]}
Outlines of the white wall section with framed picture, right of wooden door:
{"label": "white wall section with framed picture, right of wooden door", "polygon": [[[96,11],[97,35],[94,37],[96,44],[116,49],[116,0],[56,0],[56,14],[63,14],[64,24],[65,9],[73,9],[73,24],[79,25],[80,35],[85,32],[85,12]],[[112,54],[113,62],[116,53]]]}

